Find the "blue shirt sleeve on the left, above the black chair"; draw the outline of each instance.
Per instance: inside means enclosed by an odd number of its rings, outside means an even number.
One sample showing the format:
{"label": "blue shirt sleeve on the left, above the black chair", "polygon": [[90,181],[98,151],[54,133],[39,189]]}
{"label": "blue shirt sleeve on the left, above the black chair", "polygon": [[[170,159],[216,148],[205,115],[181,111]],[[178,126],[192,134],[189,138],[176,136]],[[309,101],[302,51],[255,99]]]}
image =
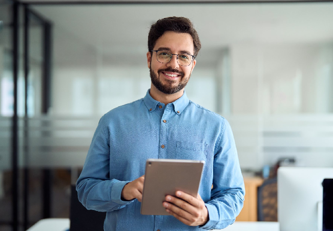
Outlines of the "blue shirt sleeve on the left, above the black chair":
{"label": "blue shirt sleeve on the left, above the black chair", "polygon": [[87,209],[113,211],[133,202],[121,200],[129,181],[110,179],[110,138],[103,116],[94,133],[84,168],[76,182],[79,201]]}

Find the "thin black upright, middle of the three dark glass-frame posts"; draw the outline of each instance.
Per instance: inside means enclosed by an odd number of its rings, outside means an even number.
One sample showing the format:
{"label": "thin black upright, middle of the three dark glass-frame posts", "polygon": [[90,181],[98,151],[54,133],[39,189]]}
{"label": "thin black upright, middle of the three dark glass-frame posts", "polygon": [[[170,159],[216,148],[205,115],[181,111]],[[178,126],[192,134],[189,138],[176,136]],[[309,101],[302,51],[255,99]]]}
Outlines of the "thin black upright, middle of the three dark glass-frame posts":
{"label": "thin black upright, middle of the three dark glass-frame posts", "polygon": [[29,225],[29,169],[28,169],[28,75],[29,75],[29,10],[24,8],[24,82],[25,82],[25,117],[24,117],[24,188],[23,188],[23,227],[28,229]]}

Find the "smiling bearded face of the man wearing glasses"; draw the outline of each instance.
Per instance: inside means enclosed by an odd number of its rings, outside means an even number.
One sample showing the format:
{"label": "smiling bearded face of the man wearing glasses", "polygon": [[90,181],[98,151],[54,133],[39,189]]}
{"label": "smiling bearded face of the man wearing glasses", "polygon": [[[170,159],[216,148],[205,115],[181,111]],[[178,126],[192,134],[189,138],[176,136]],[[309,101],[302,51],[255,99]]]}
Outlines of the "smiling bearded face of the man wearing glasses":
{"label": "smiling bearded face of the man wearing glasses", "polygon": [[[188,33],[166,31],[156,41],[154,50],[194,55],[193,39]],[[169,63],[160,63],[156,59],[156,52],[147,52],[147,61],[152,84],[165,94],[173,94],[184,89],[196,63],[196,60],[193,60],[189,66],[180,66],[176,55],[172,56]]]}

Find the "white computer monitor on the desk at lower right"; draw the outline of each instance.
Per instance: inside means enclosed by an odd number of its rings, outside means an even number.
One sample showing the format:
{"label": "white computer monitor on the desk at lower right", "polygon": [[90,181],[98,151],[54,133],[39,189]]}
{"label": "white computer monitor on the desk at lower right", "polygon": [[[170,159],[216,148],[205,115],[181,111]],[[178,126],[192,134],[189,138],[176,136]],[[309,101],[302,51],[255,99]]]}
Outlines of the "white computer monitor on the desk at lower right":
{"label": "white computer monitor on the desk at lower right", "polygon": [[325,178],[333,178],[333,168],[278,169],[280,231],[317,231],[322,228],[322,182]]}

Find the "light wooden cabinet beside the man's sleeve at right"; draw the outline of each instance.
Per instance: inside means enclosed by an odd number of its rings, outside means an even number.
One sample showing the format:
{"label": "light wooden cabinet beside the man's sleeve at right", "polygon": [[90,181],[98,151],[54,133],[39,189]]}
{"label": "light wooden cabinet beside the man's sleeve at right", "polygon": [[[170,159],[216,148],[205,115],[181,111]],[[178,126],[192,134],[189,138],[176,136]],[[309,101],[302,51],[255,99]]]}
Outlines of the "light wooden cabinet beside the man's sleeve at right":
{"label": "light wooden cabinet beside the man's sleeve at right", "polygon": [[257,221],[258,220],[258,186],[263,182],[260,177],[244,177],[245,200],[244,206],[236,221]]}

